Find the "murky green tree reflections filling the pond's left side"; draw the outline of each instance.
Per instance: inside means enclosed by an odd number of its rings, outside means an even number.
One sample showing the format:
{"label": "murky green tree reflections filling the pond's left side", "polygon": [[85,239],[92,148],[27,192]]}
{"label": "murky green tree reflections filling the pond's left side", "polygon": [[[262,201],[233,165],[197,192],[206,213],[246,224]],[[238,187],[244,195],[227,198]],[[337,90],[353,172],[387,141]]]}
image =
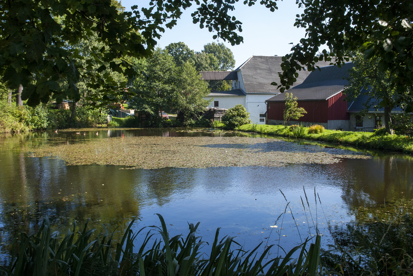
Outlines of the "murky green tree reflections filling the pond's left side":
{"label": "murky green tree reflections filling the pond's left side", "polygon": [[122,232],[131,217],[139,216],[143,200],[131,185],[130,170],[64,166],[58,159],[24,157],[23,152],[7,154],[2,163],[1,242],[9,243],[22,231],[37,231],[45,215],[53,231],[63,232],[73,218],[78,223],[91,218],[96,228],[100,222],[120,225]]}

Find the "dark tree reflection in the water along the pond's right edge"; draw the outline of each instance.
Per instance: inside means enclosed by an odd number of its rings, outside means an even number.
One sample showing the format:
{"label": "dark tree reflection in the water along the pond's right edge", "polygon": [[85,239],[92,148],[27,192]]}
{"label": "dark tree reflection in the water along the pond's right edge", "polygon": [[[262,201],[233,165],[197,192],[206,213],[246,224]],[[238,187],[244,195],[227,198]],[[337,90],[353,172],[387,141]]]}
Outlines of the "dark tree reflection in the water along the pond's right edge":
{"label": "dark tree reflection in the water along the pond's right edge", "polygon": [[343,199],[350,206],[372,206],[413,196],[413,158],[383,155],[370,160],[351,160],[342,168],[353,179],[343,187]]}

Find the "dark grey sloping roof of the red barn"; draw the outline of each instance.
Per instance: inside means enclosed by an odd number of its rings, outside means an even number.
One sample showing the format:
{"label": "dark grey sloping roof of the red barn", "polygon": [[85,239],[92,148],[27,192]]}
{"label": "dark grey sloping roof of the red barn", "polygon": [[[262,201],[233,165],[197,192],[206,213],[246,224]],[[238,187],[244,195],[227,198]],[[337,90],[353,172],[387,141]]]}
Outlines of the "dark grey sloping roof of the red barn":
{"label": "dark grey sloping roof of the red barn", "polygon": [[[286,91],[297,97],[298,101],[326,100],[344,89],[348,81],[343,78],[349,77],[348,70],[353,68],[352,62],[342,65],[341,68],[331,65],[321,67],[320,70],[311,72],[299,85]],[[284,101],[285,94],[278,94],[267,101]]]}

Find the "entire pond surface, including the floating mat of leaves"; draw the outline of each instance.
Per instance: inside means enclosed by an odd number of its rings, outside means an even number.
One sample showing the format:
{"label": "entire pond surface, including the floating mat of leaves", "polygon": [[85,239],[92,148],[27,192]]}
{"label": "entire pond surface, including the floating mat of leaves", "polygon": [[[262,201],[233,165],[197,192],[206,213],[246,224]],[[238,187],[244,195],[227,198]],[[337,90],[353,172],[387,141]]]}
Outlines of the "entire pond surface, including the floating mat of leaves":
{"label": "entire pond surface, including the floating mat of leaves", "polygon": [[261,250],[287,250],[316,227],[323,246],[332,243],[334,229],[363,217],[358,210],[400,200],[413,207],[410,155],[338,146],[214,130],[2,136],[1,250],[19,232],[36,231],[45,215],[59,234],[88,218],[96,228],[120,225],[120,234],[133,218],[140,219],[135,230],[160,226],[159,213],[171,235],[186,235],[188,222],[199,221],[197,232],[209,242],[221,227],[222,237],[237,236],[247,249],[263,242]]}

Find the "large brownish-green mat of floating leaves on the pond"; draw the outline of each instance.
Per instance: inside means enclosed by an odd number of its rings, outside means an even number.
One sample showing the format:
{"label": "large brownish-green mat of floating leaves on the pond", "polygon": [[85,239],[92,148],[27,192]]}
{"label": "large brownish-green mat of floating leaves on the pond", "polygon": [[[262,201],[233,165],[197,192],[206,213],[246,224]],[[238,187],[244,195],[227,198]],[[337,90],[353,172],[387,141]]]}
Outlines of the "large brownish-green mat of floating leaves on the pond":
{"label": "large brownish-green mat of floating leaves on the pond", "polygon": [[332,164],[343,158],[371,158],[361,152],[249,137],[126,136],[85,139],[76,143],[47,143],[29,151],[31,157],[57,157],[68,165],[110,164],[145,169],[277,167],[285,164]]}

